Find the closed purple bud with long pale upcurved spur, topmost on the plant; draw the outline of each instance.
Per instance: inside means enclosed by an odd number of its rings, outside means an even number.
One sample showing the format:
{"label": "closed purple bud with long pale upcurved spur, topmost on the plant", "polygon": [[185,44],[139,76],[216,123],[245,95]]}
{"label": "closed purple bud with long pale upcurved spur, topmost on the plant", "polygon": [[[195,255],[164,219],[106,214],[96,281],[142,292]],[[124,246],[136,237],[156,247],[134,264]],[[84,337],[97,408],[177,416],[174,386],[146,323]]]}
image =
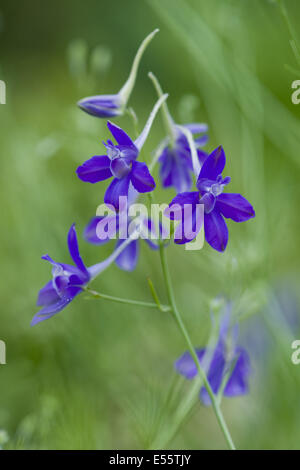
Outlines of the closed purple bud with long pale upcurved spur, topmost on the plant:
{"label": "closed purple bud with long pale upcurved spur, topmost on the plant", "polygon": [[155,29],[140,45],[135,55],[129,77],[118,93],[112,95],[88,96],[78,101],[78,106],[86,113],[99,118],[111,118],[122,115],[133,90],[142,55],[149,42],[158,31],[158,29]]}

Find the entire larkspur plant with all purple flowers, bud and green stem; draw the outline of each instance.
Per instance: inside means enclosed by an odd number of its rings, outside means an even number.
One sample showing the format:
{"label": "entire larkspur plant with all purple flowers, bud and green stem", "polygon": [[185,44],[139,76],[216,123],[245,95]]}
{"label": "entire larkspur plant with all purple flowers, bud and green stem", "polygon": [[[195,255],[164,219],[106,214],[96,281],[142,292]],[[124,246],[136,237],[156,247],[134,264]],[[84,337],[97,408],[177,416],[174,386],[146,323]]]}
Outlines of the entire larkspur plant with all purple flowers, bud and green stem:
{"label": "entire larkspur plant with all purple flowers, bud and green stem", "polygon": [[[84,98],[79,101],[79,107],[92,116],[110,119],[129,111],[127,103],[135,84],[141,57],[157,31],[153,31],[142,42],[129,77],[118,93]],[[165,249],[169,244],[166,239],[170,238],[171,231],[166,230],[166,222],[172,224],[176,244],[186,245],[192,242],[204,229],[207,243],[214,250],[223,252],[228,244],[225,219],[244,222],[253,218],[255,212],[241,194],[224,192],[231,181],[229,176],[223,176],[225,152],[221,146],[211,153],[203,149],[208,141],[208,126],[204,123],[175,123],[166,103],[168,95],[163,93],[152,73],[149,73],[149,78],[156,89],[158,100],[142,132],[133,139],[122,127],[108,120],[107,127],[111,138],[103,141],[105,151],[88,158],[76,170],[78,178],[85,183],[102,184],[110,180],[103,204],[108,214],[100,215],[97,211],[97,216],[93,217],[85,228],[84,238],[94,245],[102,245],[118,238],[115,248],[107,259],[86,267],[79,253],[73,224],[67,241],[74,264],[56,262],[49,255],[42,257],[52,265],[52,279],[38,294],[37,305],[42,308],[34,316],[32,325],[62,311],[83,291],[107,300],[154,307],[162,312],[171,311],[189,348],[189,352],[185,352],[176,361],[175,368],[187,379],[194,378],[198,373],[202,376],[204,386],[200,390],[200,398],[206,405],[213,404],[224,436],[230,448],[234,448],[221,416],[219,402],[222,395],[236,396],[247,393],[249,357],[247,352],[237,345],[236,335],[232,334],[236,329],[230,329],[228,316],[221,322],[218,340],[213,347],[209,345],[206,348],[193,348],[171,287],[165,258]],[[142,161],[142,150],[159,110],[162,112],[166,136],[155,151],[151,163],[146,163]],[[131,115],[135,115],[134,111]],[[160,165],[158,181],[153,177],[156,163]],[[136,201],[145,194],[148,194],[151,209],[156,206],[151,193],[158,186],[157,183],[160,183],[162,188],[174,188],[175,191],[174,198],[164,207],[164,220],[154,220],[152,210],[151,217],[143,213],[133,217],[132,213],[136,214],[134,206],[141,206],[136,204]],[[99,294],[88,287],[88,284],[113,262],[125,271],[135,269],[139,257],[139,239],[144,239],[151,249],[159,250],[169,305],[160,303],[151,281],[149,286],[155,303]],[[189,248],[191,246],[193,244],[188,245]]]}

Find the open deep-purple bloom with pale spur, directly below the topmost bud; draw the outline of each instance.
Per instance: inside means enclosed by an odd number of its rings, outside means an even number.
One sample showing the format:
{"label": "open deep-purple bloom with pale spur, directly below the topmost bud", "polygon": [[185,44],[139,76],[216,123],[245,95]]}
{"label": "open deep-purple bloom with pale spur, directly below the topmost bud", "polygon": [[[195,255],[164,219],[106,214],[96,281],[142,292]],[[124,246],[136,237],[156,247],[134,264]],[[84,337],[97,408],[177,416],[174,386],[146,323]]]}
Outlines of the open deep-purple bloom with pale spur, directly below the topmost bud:
{"label": "open deep-purple bloom with pale spur, directly below the topmost bud", "polygon": [[128,196],[130,185],[139,193],[147,193],[155,188],[146,163],[138,162],[137,158],[149,134],[157,111],[168,95],[162,96],[154,106],[149,119],[139,135],[132,141],[123,129],[108,121],[107,126],[117,141],[104,143],[107,155],[96,155],[77,168],[77,175],[82,181],[98,183],[113,177],[106,190],[104,202],[119,210],[119,197]]}

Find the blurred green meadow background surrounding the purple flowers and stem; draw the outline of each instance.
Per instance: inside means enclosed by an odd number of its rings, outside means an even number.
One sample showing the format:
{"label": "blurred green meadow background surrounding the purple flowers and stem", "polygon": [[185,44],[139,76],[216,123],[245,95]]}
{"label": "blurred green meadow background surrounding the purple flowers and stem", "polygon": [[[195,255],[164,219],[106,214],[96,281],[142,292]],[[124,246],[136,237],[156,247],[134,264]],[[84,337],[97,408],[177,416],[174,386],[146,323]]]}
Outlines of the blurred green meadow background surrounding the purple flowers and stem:
{"label": "blurred green meadow background surrounding the purple flowers and stem", "polygon": [[[286,6],[296,28],[299,2]],[[71,223],[87,265],[113,249],[81,237],[106,185],[84,184],[75,170],[101,154],[108,133],[105,121],[76,102],[118,91],[139,43],[158,27],[130,100],[140,125],[156,99],[147,78],[152,70],[177,122],[208,123],[206,150],[224,146],[230,190],[256,209],[245,224],[229,222],[224,254],[208,245],[199,252],[169,247],[179,307],[195,345],[207,341],[217,295],[230,299],[241,318],[240,341],[252,358],[250,393],[223,402],[237,447],[299,448],[300,365],[291,362],[291,342],[300,338],[300,106],[291,102],[291,83],[300,71],[285,67],[297,64],[276,2],[1,0],[0,12],[0,79],[7,87],[7,104],[0,105],[3,446],[225,447],[212,410],[198,400],[186,419],[177,419],[191,383],[174,372],[185,344],[168,314],[81,295],[30,327],[37,292],[50,275],[40,256],[69,262]],[[133,132],[129,118],[116,122]],[[161,124],[158,116],[145,161],[164,136]],[[156,200],[173,195],[156,190]],[[158,255],[141,245],[134,272],[111,266],[93,287],[151,300],[150,277],[166,301]]]}

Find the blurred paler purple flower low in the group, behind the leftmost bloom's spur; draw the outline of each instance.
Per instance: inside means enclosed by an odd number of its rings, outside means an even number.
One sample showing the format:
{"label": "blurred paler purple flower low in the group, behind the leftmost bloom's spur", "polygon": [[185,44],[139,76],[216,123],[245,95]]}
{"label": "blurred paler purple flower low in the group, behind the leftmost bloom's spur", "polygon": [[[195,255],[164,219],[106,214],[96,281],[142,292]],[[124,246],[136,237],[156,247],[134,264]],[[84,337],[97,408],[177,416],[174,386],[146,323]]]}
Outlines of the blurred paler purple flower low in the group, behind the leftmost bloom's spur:
{"label": "blurred paler purple flower low in the group, behind the leftmost bloom's spur", "polygon": [[[126,226],[123,224],[123,235],[128,237],[128,228],[135,222],[130,218],[126,218]],[[101,225],[102,224],[102,227]],[[120,220],[119,214],[112,214],[109,216],[93,217],[85,228],[84,238],[87,242],[93,243],[94,245],[102,245],[115,237],[116,234],[120,235],[122,228],[120,227],[122,220]],[[143,235],[145,242],[150,246],[152,250],[158,250],[159,245],[155,237],[156,229],[154,223],[150,219],[143,218],[140,221],[140,233]],[[105,230],[108,226],[111,226],[111,230]],[[100,230],[101,236],[100,236]],[[132,230],[132,226],[130,227]],[[107,234],[106,238],[103,238],[103,232]],[[160,227],[162,233],[162,227]],[[153,239],[151,239],[151,237]],[[118,239],[116,242],[116,249],[122,246],[124,239]],[[124,271],[133,271],[137,265],[139,251],[140,251],[140,240],[139,238],[132,240],[126,248],[116,258],[115,263],[120,269]]]}

